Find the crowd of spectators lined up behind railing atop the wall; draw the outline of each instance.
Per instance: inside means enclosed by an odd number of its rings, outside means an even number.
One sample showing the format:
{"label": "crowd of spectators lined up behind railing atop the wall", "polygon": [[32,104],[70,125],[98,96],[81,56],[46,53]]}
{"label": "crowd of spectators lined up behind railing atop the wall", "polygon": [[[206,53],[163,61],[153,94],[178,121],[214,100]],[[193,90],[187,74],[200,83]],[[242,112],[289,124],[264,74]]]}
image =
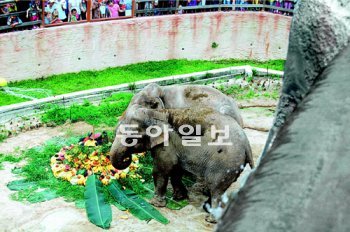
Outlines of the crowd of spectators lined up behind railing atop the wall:
{"label": "crowd of spectators lined up behind railing atop the wall", "polygon": [[[298,0],[136,0],[136,16],[162,15],[173,13],[195,13],[215,11],[218,8],[200,8],[223,4],[223,10],[261,10],[247,7],[248,4],[263,4],[292,10]],[[178,4],[178,5],[176,5]],[[230,8],[229,5],[241,7]],[[176,8],[178,6],[178,8]],[[36,29],[42,18],[41,0],[0,0],[0,27],[7,25],[15,29],[23,22],[34,22],[29,29]],[[182,8],[186,7],[186,10]],[[196,7],[189,10],[188,7]],[[175,9],[175,10],[174,10]],[[44,2],[45,24],[78,22],[87,19],[88,0],[46,0]],[[279,9],[270,9],[273,13],[282,13]],[[289,14],[288,12],[286,14]],[[91,0],[91,19],[118,18],[132,16],[132,0]],[[35,22],[38,22],[37,24]],[[1,32],[1,31],[0,31]]]}

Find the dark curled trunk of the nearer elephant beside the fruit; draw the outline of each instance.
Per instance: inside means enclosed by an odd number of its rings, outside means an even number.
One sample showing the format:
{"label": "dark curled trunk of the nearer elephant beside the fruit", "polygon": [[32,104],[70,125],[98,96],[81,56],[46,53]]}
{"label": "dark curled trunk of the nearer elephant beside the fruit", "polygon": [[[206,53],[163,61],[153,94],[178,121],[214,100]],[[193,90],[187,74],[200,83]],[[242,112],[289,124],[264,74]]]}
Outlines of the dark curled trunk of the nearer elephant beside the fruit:
{"label": "dark curled trunk of the nearer elephant beside the fruit", "polygon": [[114,141],[110,156],[111,156],[111,162],[113,167],[115,167],[118,170],[123,170],[132,162],[131,153],[128,153],[126,150],[127,147],[124,147],[122,144]]}

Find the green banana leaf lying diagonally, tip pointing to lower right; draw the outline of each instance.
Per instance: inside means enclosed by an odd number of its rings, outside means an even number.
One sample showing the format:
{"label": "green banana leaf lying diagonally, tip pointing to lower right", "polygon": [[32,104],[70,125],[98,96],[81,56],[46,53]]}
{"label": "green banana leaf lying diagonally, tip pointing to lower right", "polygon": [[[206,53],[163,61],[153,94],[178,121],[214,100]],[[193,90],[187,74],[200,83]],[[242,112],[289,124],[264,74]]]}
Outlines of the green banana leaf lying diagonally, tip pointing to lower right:
{"label": "green banana leaf lying diagonally, tip pointing to lower right", "polygon": [[155,219],[162,224],[169,223],[167,218],[133,191],[122,190],[117,181],[113,180],[108,186],[108,190],[119,204],[127,208],[138,219],[145,221]]}

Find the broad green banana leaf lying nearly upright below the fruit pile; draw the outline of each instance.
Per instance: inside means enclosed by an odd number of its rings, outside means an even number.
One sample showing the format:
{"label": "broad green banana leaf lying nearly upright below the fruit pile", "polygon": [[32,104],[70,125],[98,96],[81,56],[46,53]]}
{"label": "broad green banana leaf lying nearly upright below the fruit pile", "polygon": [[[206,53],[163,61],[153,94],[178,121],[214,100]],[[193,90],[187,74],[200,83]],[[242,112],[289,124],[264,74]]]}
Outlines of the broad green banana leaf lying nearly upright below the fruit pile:
{"label": "broad green banana leaf lying nearly upright below the fruit pile", "polygon": [[98,227],[108,229],[112,221],[112,209],[111,205],[106,203],[102,183],[95,175],[88,177],[84,197],[89,221]]}

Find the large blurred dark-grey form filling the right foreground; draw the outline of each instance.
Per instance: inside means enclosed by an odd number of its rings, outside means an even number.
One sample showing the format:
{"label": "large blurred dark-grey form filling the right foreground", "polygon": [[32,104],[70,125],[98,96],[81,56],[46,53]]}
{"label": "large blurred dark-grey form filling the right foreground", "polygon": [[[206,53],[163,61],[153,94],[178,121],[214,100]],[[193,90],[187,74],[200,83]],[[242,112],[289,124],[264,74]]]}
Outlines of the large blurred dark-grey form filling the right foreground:
{"label": "large blurred dark-grey form filling the right foreground", "polygon": [[217,231],[350,231],[350,1],[299,1],[261,161]]}

